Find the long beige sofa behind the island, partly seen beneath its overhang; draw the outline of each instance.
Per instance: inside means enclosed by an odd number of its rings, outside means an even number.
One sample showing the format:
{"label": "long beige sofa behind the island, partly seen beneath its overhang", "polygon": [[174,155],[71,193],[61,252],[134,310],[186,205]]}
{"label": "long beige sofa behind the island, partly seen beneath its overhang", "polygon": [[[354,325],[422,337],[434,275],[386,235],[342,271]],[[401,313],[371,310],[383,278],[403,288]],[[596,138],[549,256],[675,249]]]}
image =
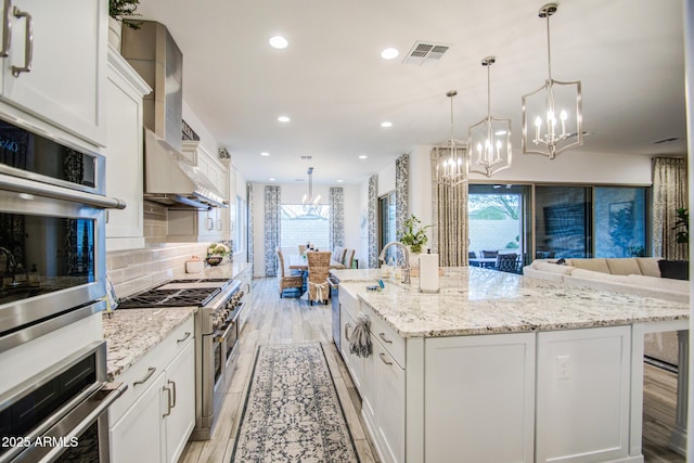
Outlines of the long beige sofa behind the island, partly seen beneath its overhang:
{"label": "long beige sofa behind the island, partly seen beneath its overhang", "polygon": [[[690,282],[660,278],[659,257],[538,259],[524,267],[525,276],[594,290],[615,291],[679,303],[689,303]],[[646,334],[646,356],[677,365],[677,333]]]}

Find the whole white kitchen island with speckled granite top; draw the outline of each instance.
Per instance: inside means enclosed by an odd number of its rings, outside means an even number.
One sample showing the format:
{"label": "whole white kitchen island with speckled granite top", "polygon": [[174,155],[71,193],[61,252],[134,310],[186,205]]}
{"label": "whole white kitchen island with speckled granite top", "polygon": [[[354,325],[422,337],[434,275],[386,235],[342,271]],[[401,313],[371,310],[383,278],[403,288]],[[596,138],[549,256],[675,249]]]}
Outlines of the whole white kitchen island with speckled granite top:
{"label": "whole white kitchen island with speckled granite top", "polygon": [[[340,353],[384,461],[643,462],[643,336],[687,330],[687,305],[478,268],[445,269],[438,294],[332,273]],[[367,358],[346,340],[361,316]]]}

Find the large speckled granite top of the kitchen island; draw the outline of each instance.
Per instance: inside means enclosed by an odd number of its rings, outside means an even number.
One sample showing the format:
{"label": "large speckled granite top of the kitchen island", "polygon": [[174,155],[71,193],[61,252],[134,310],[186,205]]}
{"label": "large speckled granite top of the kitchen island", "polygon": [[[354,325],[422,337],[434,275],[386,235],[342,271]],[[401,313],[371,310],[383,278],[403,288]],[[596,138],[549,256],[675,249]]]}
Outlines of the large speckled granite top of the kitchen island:
{"label": "large speckled granite top of the kitchen island", "polygon": [[[355,272],[355,273],[350,273]],[[687,320],[686,304],[569,287],[474,267],[446,268],[438,294],[384,280],[367,292],[377,270],[333,272],[340,290],[356,294],[403,337],[519,333]]]}

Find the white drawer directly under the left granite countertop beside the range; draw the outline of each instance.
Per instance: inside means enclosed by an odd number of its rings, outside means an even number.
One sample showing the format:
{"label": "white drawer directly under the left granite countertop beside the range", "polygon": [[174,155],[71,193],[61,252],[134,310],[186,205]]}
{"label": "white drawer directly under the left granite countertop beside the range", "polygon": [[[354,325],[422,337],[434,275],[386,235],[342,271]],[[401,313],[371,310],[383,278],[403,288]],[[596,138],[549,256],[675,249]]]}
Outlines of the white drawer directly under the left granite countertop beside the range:
{"label": "white drawer directly under the left granite countertop beside the range", "polygon": [[[193,319],[194,317],[189,318],[127,371],[116,376],[115,382],[127,384],[128,389],[108,409],[108,420],[112,425],[123,416],[138,397],[150,387],[153,381],[164,372],[164,369],[166,369],[171,360],[193,340],[195,333]],[[187,333],[190,333],[190,335]],[[181,339],[185,340],[183,342]]]}

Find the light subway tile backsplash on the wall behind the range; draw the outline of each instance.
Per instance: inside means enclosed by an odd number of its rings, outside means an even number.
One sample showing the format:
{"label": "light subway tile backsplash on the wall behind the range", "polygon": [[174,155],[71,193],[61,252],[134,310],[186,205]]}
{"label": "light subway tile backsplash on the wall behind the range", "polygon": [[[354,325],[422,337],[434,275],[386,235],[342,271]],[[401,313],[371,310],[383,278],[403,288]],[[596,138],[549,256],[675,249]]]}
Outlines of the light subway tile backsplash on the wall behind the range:
{"label": "light subway tile backsplash on the wall behind the range", "polygon": [[185,274],[185,260],[207,255],[210,243],[159,243],[141,249],[106,253],[106,271],[116,295],[139,291]]}

